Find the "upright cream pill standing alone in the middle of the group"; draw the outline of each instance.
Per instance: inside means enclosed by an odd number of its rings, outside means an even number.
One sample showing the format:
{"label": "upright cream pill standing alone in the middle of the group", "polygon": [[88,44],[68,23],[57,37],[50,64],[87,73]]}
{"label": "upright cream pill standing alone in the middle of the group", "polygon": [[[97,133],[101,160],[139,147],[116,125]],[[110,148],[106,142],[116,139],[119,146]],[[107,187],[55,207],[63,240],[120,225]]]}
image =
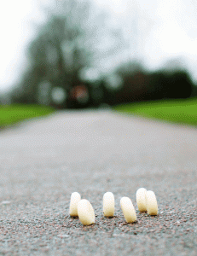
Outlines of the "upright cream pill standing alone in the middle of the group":
{"label": "upright cream pill standing alone in the middle of the group", "polygon": [[103,195],[103,214],[105,217],[113,217],[114,210],[114,195],[112,192],[107,192]]}

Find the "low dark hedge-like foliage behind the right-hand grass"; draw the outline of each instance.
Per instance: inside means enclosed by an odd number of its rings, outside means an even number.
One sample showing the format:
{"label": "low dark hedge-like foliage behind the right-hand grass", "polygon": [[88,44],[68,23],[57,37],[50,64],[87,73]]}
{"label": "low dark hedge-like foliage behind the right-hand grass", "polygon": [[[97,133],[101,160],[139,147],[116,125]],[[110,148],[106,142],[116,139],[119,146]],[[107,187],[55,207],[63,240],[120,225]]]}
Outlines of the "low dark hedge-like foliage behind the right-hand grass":
{"label": "low dark hedge-like foliage behind the right-hand grass", "polygon": [[188,98],[194,95],[195,86],[185,70],[148,73],[134,62],[119,67],[124,86],[113,98],[113,105],[124,102],[142,102],[159,99]]}

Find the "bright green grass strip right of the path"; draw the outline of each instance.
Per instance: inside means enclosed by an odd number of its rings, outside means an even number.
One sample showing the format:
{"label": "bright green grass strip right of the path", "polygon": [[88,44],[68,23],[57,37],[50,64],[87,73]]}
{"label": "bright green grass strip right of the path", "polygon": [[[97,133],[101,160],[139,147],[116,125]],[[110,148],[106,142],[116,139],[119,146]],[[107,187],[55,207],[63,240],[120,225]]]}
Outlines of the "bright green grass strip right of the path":
{"label": "bright green grass strip right of the path", "polygon": [[150,119],[178,124],[197,125],[197,98],[155,102],[133,102],[113,108],[119,113],[129,113]]}

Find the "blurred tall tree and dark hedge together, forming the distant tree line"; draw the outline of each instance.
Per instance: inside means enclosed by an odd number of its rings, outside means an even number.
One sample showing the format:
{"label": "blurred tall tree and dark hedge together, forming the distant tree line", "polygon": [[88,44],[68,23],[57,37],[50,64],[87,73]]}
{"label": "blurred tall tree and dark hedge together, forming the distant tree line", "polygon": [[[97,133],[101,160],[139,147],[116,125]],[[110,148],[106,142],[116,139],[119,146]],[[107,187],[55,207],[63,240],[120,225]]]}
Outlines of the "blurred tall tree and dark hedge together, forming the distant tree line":
{"label": "blurred tall tree and dark hedge together, forming the distant tree line", "polygon": [[96,75],[96,63],[127,45],[121,30],[109,26],[107,14],[89,1],[62,0],[58,9],[43,7],[43,13],[46,22],[27,48],[29,64],[12,102],[85,108],[197,96],[185,70],[148,73],[129,61],[113,73]]}

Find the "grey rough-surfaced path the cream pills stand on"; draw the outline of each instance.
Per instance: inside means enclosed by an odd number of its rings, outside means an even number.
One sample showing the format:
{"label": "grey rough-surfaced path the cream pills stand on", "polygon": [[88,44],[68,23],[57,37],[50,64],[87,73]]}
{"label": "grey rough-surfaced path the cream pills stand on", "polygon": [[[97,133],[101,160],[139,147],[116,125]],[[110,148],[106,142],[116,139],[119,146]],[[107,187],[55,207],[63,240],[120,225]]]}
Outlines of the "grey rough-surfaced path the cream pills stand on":
{"label": "grey rough-surfaced path the cream pills stand on", "polygon": [[[110,110],[59,112],[0,133],[0,255],[197,255],[197,129]],[[136,207],[154,190],[159,215]],[[68,216],[78,191],[96,212]],[[103,218],[102,196],[115,196]],[[129,196],[137,222],[126,224]]]}

